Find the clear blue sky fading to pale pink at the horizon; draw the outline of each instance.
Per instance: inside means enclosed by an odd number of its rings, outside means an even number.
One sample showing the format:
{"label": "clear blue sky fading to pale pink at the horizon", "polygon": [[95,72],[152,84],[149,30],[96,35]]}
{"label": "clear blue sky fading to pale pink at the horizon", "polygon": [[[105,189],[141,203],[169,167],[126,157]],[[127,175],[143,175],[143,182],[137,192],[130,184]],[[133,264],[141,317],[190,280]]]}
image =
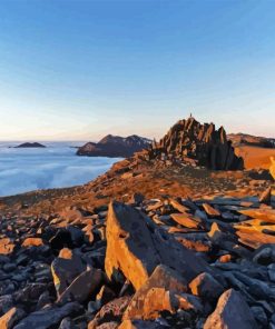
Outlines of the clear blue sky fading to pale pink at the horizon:
{"label": "clear blue sky fading to pale pink at the horizon", "polygon": [[275,1],[1,0],[0,140],[275,137]]}

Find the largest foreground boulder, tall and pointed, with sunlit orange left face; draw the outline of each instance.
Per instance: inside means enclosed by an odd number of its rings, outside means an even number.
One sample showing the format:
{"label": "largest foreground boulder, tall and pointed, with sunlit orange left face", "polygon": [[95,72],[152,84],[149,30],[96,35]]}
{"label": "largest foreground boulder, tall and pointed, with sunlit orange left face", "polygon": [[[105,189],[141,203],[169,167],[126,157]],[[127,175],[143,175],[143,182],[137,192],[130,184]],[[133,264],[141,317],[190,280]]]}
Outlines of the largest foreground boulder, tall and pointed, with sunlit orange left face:
{"label": "largest foreground boulder, tall and pointed, with sunlit orange left face", "polygon": [[177,270],[187,282],[208,265],[176,239],[158,228],[143,212],[111,202],[107,217],[106,273],[116,279],[121,271],[139,289],[159,265]]}

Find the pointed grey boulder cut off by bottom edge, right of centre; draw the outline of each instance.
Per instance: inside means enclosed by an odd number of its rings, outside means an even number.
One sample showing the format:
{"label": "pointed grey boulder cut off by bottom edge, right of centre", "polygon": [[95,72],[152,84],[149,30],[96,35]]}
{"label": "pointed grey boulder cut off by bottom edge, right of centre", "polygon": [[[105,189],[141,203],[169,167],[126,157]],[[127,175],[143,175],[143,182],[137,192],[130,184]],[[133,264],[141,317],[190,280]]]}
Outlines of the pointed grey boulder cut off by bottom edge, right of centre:
{"label": "pointed grey boulder cut off by bottom edge, right of centre", "polygon": [[256,329],[253,313],[239,292],[226,290],[218,300],[215,311],[207,318],[204,329]]}

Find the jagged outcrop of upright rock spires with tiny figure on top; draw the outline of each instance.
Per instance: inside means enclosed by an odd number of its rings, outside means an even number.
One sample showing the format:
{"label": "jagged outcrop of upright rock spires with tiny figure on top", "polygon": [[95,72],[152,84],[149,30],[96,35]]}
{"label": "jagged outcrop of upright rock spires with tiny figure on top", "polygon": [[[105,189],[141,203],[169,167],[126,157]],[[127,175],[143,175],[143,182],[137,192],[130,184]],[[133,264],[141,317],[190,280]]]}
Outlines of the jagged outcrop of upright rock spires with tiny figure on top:
{"label": "jagged outcrop of upright rock spires with tiny figure on top", "polygon": [[178,121],[159,142],[154,142],[148,157],[193,161],[213,170],[238,170],[244,167],[243,159],[235,154],[223,127],[216,130],[214,123],[200,124],[191,117]]}

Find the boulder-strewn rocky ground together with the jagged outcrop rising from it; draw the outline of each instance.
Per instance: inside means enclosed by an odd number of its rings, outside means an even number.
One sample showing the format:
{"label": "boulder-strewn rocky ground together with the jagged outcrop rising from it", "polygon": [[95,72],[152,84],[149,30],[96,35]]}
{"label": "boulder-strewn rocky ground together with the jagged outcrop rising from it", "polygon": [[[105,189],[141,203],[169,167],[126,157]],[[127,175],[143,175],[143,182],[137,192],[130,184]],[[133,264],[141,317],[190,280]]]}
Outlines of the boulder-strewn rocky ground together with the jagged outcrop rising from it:
{"label": "boulder-strewn rocky ground together with the jagged outcrop rising from it", "polygon": [[1,198],[0,328],[275,328],[274,161],[242,166],[189,118],[85,186]]}

